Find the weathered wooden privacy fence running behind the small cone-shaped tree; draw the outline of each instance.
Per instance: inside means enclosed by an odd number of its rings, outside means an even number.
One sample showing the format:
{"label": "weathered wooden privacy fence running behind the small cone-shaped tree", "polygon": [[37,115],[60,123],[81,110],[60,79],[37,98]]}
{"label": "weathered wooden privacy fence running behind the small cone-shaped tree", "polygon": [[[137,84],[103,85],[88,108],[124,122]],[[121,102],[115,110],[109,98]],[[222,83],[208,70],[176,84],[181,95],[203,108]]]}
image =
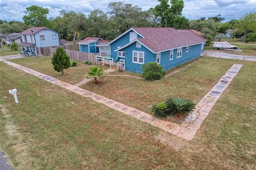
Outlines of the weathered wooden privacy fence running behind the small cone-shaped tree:
{"label": "weathered wooden privacy fence running behind the small cone-shaped tree", "polygon": [[[47,49],[44,49],[45,53],[47,53],[47,55],[53,56],[54,52],[56,51],[56,48],[52,48],[52,47],[44,47]],[[100,56],[104,56],[105,53],[87,53],[87,52],[80,52],[80,51],[73,51],[73,50],[68,50],[65,49],[67,55],[70,57],[70,59],[72,60],[76,60],[76,61],[90,61],[93,64],[96,64],[95,61],[95,55],[100,55]]]}

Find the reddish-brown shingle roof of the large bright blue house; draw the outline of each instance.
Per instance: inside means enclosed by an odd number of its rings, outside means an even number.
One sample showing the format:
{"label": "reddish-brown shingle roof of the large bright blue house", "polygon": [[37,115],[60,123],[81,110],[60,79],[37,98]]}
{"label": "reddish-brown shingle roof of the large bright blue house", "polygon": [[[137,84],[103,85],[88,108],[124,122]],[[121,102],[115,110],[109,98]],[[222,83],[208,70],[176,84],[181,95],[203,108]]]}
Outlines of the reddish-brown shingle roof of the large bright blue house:
{"label": "reddish-brown shingle roof of the large bright blue house", "polygon": [[205,42],[202,36],[191,30],[179,31],[174,28],[133,28],[145,38],[138,38],[154,52],[165,51],[187,45]]}

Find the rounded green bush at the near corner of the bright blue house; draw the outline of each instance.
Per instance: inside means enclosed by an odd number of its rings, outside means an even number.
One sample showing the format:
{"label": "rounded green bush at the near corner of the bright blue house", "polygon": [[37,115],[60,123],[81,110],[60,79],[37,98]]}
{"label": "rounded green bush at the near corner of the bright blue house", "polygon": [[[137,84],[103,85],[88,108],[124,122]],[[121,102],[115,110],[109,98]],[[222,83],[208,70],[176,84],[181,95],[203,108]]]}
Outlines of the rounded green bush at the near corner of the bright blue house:
{"label": "rounded green bush at the near corner of the bright blue house", "polygon": [[164,77],[164,66],[156,62],[149,62],[142,65],[142,77],[146,80],[159,80]]}

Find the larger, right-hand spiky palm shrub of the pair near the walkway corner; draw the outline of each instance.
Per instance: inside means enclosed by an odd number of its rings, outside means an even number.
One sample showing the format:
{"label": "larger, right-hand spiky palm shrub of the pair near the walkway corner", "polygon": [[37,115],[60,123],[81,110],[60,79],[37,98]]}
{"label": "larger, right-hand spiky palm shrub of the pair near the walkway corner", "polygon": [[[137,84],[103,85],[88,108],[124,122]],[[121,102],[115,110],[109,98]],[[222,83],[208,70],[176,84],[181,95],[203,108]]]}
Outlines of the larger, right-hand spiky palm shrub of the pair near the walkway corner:
{"label": "larger, right-hand spiky palm shrub of the pair near the walkway corner", "polygon": [[196,104],[189,100],[183,99],[179,97],[172,97],[166,100],[166,111],[171,116],[174,116],[176,119],[179,117],[180,119],[185,118],[195,109]]}

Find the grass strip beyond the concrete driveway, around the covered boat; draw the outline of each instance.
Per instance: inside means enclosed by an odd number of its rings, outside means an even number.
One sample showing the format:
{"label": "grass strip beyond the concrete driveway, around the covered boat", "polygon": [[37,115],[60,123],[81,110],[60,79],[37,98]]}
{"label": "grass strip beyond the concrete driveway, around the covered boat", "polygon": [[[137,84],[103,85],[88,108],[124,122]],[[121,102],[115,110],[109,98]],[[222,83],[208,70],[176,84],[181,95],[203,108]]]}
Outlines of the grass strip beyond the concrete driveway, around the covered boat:
{"label": "grass strip beyond the concrete driveway, around the covered boat", "polygon": [[243,51],[229,51],[229,50],[220,50],[220,49],[214,49],[213,43],[211,43],[210,47],[205,47],[204,49],[214,50],[214,51],[221,51],[224,53],[231,53],[231,54],[238,54],[238,55],[249,55],[256,57],[256,44],[235,44],[230,43],[231,45],[236,45],[239,49],[242,49]]}

